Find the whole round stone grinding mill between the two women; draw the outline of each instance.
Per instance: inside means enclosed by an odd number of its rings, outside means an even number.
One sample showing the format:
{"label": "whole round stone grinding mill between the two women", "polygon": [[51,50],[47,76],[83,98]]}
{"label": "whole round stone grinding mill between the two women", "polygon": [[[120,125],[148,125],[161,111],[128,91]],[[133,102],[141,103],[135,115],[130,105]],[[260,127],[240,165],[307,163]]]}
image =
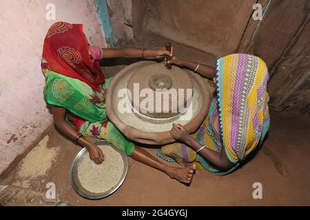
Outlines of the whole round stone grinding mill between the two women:
{"label": "whole round stone grinding mill between the two women", "polygon": [[196,131],[207,116],[209,102],[209,90],[198,74],[141,61],[116,74],[107,89],[106,109],[107,117],[130,140],[163,145],[175,141],[170,135],[173,123],[182,124],[189,133]]}

